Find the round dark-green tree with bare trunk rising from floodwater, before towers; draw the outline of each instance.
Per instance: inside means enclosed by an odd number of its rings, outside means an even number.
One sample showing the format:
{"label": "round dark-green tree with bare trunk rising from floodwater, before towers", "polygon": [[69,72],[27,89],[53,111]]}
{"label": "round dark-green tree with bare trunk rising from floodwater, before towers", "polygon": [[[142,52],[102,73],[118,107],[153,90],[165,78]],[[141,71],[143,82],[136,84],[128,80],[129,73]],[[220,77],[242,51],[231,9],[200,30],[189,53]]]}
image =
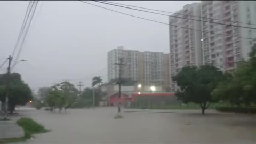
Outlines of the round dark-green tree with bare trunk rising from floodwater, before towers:
{"label": "round dark-green tree with bare trunk rising from floodwater, before towers", "polygon": [[172,77],[173,81],[179,86],[175,95],[184,103],[198,103],[204,114],[213,99],[211,92],[218,85],[223,77],[222,72],[212,65],[185,66],[181,71]]}

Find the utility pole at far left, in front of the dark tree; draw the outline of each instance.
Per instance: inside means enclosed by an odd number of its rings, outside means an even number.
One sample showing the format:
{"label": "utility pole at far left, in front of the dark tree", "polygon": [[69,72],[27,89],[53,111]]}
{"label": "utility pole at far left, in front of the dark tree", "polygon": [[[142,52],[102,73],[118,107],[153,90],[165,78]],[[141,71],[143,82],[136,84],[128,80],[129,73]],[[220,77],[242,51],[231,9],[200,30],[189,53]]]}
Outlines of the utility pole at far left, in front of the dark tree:
{"label": "utility pole at far left, in front of the dark tree", "polygon": [[10,55],[8,58],[8,68],[7,68],[7,75],[6,75],[6,95],[5,95],[5,116],[4,119],[7,120],[8,115],[8,98],[9,98],[9,81],[10,81],[10,70],[11,70],[11,61],[12,56]]}

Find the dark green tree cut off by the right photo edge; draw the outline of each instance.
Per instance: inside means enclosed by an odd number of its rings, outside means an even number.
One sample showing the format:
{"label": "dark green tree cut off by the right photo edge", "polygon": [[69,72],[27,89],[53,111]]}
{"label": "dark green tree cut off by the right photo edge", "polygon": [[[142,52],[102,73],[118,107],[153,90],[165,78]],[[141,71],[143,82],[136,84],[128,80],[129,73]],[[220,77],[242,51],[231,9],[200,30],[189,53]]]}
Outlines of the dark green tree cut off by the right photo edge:
{"label": "dark green tree cut off by the right photo edge", "polygon": [[248,61],[238,63],[233,76],[228,81],[222,81],[214,89],[215,98],[229,102],[231,105],[250,106],[256,103],[256,44],[249,53]]}

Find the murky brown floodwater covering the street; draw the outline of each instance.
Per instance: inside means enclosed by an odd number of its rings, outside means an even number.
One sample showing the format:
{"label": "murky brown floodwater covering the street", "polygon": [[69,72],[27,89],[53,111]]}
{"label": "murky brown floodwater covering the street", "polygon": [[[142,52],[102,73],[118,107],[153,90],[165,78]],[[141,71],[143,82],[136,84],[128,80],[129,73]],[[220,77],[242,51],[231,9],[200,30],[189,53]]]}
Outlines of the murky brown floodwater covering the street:
{"label": "murky brown floodwater covering the street", "polygon": [[[68,109],[65,113],[22,110],[51,132],[20,143],[255,143],[256,116],[211,110]],[[125,111],[133,111],[127,113]],[[137,112],[135,112],[137,111]],[[141,111],[141,112],[138,112]],[[165,113],[152,113],[152,112]],[[166,113],[170,111],[171,113]]]}

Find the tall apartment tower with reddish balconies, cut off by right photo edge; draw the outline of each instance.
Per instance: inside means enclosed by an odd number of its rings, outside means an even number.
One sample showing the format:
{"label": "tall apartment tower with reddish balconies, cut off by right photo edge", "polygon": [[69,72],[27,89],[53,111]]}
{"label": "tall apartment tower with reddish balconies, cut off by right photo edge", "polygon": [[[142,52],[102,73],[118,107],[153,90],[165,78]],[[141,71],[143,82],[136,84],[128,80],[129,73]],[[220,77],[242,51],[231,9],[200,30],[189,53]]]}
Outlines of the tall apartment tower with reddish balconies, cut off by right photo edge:
{"label": "tall apartment tower with reddish balconies, cut off by right photo edge", "polygon": [[201,23],[204,31],[202,33],[204,64],[211,63],[221,70],[231,70],[236,67],[238,61],[249,58],[248,53],[256,42],[256,30],[235,26],[256,28],[255,1],[202,1],[201,15],[203,21],[226,24]]}

